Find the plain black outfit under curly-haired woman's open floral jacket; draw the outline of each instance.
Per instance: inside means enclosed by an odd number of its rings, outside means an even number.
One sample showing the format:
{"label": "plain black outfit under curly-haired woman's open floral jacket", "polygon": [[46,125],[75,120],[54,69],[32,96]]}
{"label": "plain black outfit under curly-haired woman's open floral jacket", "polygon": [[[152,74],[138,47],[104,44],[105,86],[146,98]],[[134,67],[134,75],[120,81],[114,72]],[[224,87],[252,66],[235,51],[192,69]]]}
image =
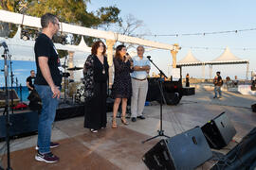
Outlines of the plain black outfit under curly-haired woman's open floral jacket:
{"label": "plain black outfit under curly-haired woman's open floral jacket", "polygon": [[106,97],[107,97],[107,79],[108,79],[108,63],[104,57],[104,64],[100,59],[93,56],[93,79],[94,79],[94,95],[85,102],[84,110],[84,127],[100,129],[106,127]]}

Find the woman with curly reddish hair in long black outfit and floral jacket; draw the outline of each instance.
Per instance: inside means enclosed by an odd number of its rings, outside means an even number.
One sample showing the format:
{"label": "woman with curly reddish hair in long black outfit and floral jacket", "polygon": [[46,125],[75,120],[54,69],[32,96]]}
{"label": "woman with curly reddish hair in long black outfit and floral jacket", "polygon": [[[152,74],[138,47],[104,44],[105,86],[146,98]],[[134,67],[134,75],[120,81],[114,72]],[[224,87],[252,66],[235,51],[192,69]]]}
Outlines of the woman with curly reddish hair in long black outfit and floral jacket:
{"label": "woman with curly reddish hair in long black outfit and floral jacket", "polygon": [[84,76],[84,127],[91,132],[98,132],[106,127],[106,97],[108,80],[108,63],[104,56],[106,46],[103,42],[95,42],[91,55],[83,66]]}

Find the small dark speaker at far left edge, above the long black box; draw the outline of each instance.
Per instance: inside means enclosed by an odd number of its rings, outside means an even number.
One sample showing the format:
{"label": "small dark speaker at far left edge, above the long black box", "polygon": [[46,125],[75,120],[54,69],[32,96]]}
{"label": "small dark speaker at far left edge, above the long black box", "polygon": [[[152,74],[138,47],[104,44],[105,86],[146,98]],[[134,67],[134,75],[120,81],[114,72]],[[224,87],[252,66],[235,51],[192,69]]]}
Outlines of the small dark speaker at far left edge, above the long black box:
{"label": "small dark speaker at far left edge, above the long black box", "polygon": [[[20,102],[19,96],[14,89],[12,91],[9,89],[9,106],[11,106],[11,97],[13,98],[13,105],[17,105]],[[0,108],[5,108],[6,106],[6,91],[0,90]]]}

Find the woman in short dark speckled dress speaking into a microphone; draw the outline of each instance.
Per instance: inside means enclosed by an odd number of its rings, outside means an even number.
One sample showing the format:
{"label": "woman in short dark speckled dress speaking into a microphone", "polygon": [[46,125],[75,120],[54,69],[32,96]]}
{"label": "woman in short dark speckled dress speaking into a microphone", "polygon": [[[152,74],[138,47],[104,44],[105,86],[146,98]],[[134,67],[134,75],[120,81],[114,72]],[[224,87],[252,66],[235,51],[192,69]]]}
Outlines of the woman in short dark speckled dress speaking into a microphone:
{"label": "woman in short dark speckled dress speaking into a microphone", "polygon": [[112,86],[112,94],[115,98],[113,106],[113,120],[112,127],[118,127],[116,116],[119,110],[119,103],[121,101],[121,123],[128,125],[125,119],[127,99],[132,95],[132,82],[130,73],[133,71],[130,60],[131,57],[126,55],[126,47],[119,45],[116,49],[114,58],[115,78]]}

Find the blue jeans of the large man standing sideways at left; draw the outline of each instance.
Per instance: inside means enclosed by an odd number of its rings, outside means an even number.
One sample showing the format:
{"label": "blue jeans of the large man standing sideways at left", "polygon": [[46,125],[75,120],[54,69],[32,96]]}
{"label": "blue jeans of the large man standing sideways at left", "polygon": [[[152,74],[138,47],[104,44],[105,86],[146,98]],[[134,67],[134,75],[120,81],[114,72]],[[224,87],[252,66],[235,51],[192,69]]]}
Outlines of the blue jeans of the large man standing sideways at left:
{"label": "blue jeans of the large man standing sideways at left", "polygon": [[57,97],[52,98],[53,93],[49,86],[35,85],[35,89],[42,99],[37,144],[39,146],[39,152],[45,154],[50,152],[51,126],[55,119],[58,99]]}

